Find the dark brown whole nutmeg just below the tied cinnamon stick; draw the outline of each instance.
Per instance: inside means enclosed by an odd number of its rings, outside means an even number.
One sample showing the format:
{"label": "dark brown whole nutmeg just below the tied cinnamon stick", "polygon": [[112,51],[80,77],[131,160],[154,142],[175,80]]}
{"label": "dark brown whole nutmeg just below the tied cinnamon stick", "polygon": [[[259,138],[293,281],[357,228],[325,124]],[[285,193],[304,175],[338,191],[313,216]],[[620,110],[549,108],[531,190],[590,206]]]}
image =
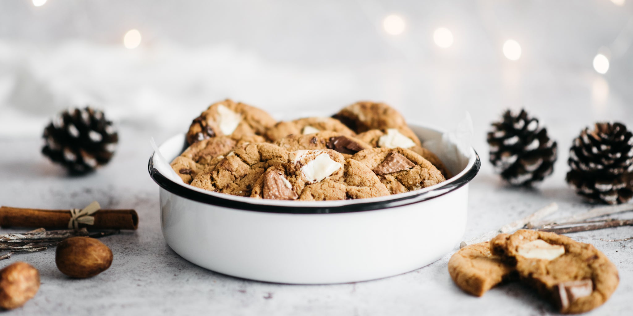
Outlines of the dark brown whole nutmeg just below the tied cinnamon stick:
{"label": "dark brown whole nutmeg just below the tied cinnamon stick", "polygon": [[93,277],[112,264],[112,251],[101,241],[89,237],[71,237],[57,244],[55,264],[69,277]]}

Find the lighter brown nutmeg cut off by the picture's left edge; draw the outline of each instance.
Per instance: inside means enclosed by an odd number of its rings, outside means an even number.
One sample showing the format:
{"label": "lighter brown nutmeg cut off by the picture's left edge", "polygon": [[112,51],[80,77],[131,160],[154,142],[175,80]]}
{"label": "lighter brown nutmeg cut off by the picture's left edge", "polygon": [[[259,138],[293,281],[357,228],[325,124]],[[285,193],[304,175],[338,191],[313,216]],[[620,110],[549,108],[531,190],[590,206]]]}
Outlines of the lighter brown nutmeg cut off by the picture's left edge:
{"label": "lighter brown nutmeg cut off by the picture's left edge", "polygon": [[26,262],[16,262],[0,270],[0,307],[21,307],[39,289],[39,272]]}

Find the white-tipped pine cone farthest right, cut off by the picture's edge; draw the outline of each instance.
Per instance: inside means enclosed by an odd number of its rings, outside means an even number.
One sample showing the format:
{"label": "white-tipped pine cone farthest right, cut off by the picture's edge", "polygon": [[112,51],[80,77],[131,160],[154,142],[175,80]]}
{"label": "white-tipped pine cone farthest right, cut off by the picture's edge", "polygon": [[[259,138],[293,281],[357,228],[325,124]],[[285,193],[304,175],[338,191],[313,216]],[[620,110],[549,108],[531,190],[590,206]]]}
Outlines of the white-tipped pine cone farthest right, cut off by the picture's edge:
{"label": "white-tipped pine cone farthest right, cut off by the picture's edge", "polygon": [[621,123],[596,123],[573,140],[567,182],[592,202],[625,203],[633,197],[633,137]]}

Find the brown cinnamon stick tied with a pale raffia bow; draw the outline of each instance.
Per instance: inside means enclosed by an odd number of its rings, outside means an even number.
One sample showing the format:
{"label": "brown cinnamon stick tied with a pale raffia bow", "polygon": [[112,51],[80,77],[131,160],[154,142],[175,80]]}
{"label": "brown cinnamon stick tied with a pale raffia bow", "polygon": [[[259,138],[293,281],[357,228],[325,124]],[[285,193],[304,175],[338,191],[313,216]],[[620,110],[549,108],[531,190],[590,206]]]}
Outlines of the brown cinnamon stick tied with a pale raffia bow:
{"label": "brown cinnamon stick tied with a pale raffia bow", "polygon": [[[137,229],[139,216],[135,210],[97,210],[94,224],[79,224],[94,229]],[[22,209],[0,207],[0,226],[68,228],[72,216],[70,210]]]}

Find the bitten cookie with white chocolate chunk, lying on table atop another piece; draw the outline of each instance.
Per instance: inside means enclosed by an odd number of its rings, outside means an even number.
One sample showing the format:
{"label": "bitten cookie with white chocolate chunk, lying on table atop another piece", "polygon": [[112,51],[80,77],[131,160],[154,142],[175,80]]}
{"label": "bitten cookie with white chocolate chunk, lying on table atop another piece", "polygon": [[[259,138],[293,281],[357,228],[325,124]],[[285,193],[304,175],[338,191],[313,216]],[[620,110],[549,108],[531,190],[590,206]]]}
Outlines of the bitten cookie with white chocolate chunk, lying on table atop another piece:
{"label": "bitten cookie with white chocolate chunk, lying on table atop another piece", "polygon": [[520,279],[561,313],[599,307],[618,286],[618,270],[593,245],[567,236],[521,229],[492,238],[491,252],[515,265]]}

